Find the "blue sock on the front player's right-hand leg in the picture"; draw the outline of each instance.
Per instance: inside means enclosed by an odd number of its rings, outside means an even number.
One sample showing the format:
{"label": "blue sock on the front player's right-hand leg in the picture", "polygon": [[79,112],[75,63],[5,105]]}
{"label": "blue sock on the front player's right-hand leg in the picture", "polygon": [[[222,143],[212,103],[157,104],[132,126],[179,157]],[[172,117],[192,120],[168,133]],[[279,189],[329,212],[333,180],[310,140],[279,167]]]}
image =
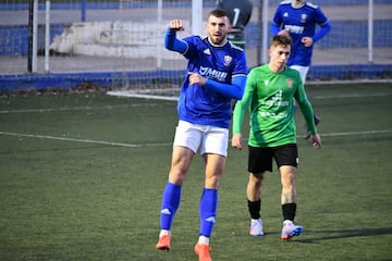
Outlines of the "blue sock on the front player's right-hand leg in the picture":
{"label": "blue sock on the front player's right-hand leg in the picture", "polygon": [[200,198],[200,235],[210,237],[217,216],[218,190],[205,188]]}

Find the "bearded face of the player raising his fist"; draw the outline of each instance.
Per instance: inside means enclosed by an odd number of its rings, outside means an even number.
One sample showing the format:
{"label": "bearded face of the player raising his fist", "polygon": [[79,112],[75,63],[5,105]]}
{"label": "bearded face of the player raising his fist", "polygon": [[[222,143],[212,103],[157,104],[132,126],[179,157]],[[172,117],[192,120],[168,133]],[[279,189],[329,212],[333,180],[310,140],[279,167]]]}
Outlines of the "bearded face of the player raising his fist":
{"label": "bearded face of the player raising his fist", "polygon": [[221,44],[230,32],[229,18],[226,16],[209,16],[206,25],[208,37],[215,45]]}

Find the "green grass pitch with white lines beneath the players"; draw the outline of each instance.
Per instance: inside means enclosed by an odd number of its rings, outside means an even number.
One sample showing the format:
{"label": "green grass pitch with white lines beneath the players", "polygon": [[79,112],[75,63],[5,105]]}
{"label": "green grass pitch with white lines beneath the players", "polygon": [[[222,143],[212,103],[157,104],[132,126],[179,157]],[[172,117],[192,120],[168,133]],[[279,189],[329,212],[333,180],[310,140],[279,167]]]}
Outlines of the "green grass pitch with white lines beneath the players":
{"label": "green grass pitch with white lines beneath the players", "polygon": [[[309,85],[323,148],[302,138],[296,222],[280,239],[277,170],[264,185],[266,235],[248,235],[246,149],[229,149],[213,260],[391,260],[392,85]],[[200,157],[158,252],[176,104],[101,92],[0,99],[0,260],[197,260]],[[245,133],[246,134],[246,133]],[[247,136],[247,135],[245,135]]]}

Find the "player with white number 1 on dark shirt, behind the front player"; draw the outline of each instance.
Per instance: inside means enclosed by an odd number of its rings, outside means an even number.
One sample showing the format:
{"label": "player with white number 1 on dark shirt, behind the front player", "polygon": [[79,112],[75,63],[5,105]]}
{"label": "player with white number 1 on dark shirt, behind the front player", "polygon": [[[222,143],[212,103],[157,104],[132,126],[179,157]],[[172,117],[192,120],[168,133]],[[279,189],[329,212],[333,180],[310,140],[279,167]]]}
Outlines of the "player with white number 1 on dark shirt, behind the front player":
{"label": "player with white number 1 on dark shirt, behind the front player", "polygon": [[228,12],[232,29],[228,39],[241,48],[245,48],[245,26],[249,23],[253,0],[218,0],[217,7]]}

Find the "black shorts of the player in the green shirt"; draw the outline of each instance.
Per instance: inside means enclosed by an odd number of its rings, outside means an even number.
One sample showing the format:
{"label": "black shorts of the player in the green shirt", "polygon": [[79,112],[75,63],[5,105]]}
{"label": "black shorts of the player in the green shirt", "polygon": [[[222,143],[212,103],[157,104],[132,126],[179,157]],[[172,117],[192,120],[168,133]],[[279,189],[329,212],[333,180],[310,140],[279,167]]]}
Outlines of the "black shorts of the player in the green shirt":
{"label": "black shorts of the player in the green shirt", "polygon": [[265,171],[272,172],[272,159],[275,160],[278,167],[282,165],[298,165],[298,149],[295,144],[272,147],[256,148],[248,147],[248,172],[262,173]]}

